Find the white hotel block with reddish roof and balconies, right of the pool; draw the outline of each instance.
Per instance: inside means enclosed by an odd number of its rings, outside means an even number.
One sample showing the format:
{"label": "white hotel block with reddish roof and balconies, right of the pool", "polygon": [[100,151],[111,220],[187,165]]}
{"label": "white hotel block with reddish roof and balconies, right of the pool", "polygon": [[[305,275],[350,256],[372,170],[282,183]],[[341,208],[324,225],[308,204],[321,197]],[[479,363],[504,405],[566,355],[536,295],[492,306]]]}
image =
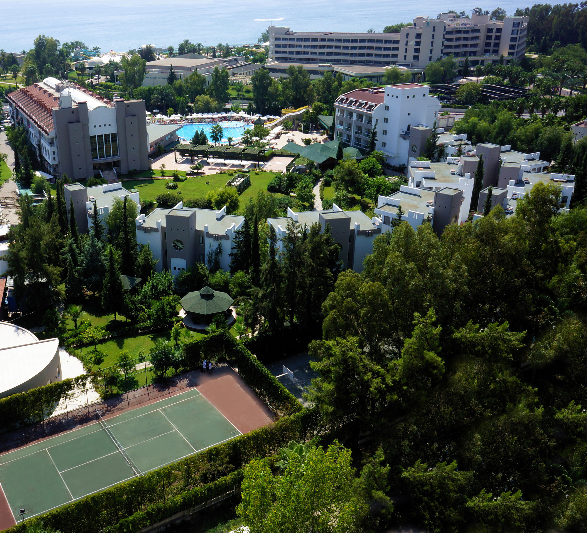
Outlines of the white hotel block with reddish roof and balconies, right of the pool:
{"label": "white hotel block with reddish roof and balconies, right of the pool", "polygon": [[440,101],[421,83],[356,89],[340,95],[335,106],[335,139],[367,148],[377,125],[377,150],[387,163],[409,164],[421,155],[438,114]]}

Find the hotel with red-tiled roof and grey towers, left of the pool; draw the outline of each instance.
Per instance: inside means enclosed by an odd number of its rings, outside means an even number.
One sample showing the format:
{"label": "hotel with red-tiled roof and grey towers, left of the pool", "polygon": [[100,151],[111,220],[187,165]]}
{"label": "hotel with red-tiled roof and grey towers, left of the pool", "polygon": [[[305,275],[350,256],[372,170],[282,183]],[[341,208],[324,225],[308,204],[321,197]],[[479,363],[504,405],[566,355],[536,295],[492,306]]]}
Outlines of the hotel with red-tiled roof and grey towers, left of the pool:
{"label": "hotel with red-tiled roof and grey towers, left of the pool", "polygon": [[48,77],[6,97],[11,119],[26,127],[39,161],[53,176],[85,180],[100,171],[148,170],[144,100],[108,100]]}

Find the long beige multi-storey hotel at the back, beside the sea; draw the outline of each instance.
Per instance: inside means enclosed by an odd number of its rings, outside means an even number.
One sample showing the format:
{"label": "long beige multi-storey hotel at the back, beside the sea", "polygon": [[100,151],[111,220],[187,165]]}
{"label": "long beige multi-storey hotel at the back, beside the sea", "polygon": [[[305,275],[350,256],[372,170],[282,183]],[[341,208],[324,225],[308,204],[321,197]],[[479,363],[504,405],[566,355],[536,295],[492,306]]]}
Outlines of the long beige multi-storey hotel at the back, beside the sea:
{"label": "long beige multi-storey hotel at the back, beside the sea", "polygon": [[491,21],[490,15],[473,14],[468,19],[454,16],[418,16],[413,25],[399,33],[294,32],[287,27],[270,26],[271,62],[266,66],[273,75],[279,75],[279,70],[285,72],[289,65],[301,64],[311,73],[315,71],[316,77],[328,70],[326,66],[335,65],[340,66],[335,68],[340,72],[356,65],[357,73],[361,73],[369,66],[424,69],[428,63],[450,54],[469,58],[471,66],[497,62],[500,56],[507,61],[524,55],[527,16],[507,16],[502,21]]}

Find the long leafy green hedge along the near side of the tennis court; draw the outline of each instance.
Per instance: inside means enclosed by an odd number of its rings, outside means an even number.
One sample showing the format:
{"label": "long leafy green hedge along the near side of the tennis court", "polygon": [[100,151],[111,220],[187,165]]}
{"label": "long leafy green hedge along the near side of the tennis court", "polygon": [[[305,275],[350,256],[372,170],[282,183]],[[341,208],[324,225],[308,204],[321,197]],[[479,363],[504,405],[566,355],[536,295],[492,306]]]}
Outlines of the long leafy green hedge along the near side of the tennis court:
{"label": "long leafy green hedge along the near side of the tennis court", "polygon": [[[302,409],[167,467],[29,518],[26,526],[18,524],[7,531],[25,533],[26,527],[41,522],[62,533],[95,533],[104,528],[110,532],[139,531],[231,490],[239,483],[239,470],[245,464],[257,457],[274,456],[290,440],[312,438],[320,421],[317,409]],[[215,473],[221,476],[213,478]]]}

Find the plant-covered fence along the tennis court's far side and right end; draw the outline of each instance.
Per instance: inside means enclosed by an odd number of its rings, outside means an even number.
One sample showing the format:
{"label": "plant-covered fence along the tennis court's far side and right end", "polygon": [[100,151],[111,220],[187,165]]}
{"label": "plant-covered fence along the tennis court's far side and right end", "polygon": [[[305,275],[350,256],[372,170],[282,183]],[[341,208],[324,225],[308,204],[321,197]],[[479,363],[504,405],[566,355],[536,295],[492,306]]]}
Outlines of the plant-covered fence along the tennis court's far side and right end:
{"label": "plant-covered fence along the tennis court's far side and right end", "polygon": [[[298,400],[279,383],[255,356],[229,332],[221,330],[204,338],[190,340],[183,345],[165,345],[163,350],[120,363],[89,374],[64,379],[27,392],[12,394],[0,399],[0,433],[31,426],[39,422],[46,424],[70,416],[89,415],[92,403],[69,410],[68,402],[89,397],[88,390],[95,390],[102,399],[127,394],[149,385],[164,384],[173,377],[198,369],[204,359],[217,362],[221,358],[236,367],[245,383],[278,416],[301,409]],[[150,399],[150,397],[149,397]],[[79,404],[79,402],[76,402]],[[52,417],[56,408],[65,413]],[[85,412],[86,411],[86,412]],[[93,411],[92,411],[93,412]],[[56,419],[56,420],[53,420]]]}

